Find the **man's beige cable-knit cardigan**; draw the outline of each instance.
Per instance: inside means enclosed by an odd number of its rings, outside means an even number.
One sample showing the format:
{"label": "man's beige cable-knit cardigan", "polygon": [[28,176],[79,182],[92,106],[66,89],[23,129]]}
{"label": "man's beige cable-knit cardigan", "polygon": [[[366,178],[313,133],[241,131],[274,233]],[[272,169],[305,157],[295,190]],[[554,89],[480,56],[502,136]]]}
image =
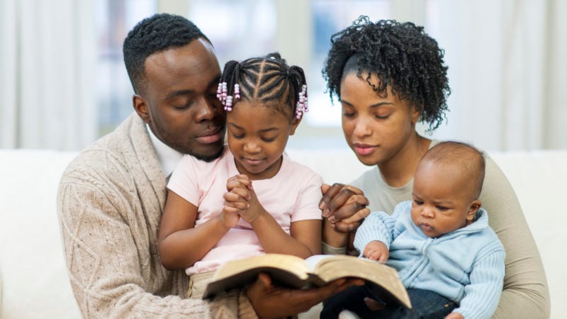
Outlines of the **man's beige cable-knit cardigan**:
{"label": "man's beige cable-knit cardigan", "polygon": [[57,213],[74,296],[85,318],[257,318],[243,291],[186,299],[188,280],[159,262],[166,181],[136,113],[64,172]]}

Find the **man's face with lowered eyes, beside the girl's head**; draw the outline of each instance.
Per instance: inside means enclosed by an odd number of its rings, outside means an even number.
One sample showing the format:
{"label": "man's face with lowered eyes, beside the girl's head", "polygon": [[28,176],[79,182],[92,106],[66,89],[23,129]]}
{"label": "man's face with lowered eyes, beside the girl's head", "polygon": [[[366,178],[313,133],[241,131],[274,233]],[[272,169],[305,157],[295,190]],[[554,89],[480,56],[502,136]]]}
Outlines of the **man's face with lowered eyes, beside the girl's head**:
{"label": "man's face with lowered eyes, beside the girl's head", "polygon": [[198,38],[145,61],[145,90],[134,108],[165,144],[210,160],[223,149],[225,111],[216,98],[220,67],[213,47]]}

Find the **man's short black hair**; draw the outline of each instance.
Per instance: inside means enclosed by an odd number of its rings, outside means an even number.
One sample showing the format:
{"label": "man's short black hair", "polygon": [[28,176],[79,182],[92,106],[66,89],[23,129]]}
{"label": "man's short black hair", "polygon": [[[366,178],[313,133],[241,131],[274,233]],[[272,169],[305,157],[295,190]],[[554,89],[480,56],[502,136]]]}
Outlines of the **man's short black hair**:
{"label": "man's short black hair", "polygon": [[138,22],[123,43],[124,64],[134,92],[145,89],[144,63],[155,52],[188,45],[196,38],[210,40],[191,21],[169,13],[157,13]]}

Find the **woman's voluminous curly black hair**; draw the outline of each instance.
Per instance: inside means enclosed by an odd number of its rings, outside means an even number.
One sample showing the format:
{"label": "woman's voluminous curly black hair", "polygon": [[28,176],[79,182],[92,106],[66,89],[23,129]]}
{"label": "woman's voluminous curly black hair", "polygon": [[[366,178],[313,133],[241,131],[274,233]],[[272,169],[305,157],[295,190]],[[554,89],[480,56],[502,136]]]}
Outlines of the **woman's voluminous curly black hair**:
{"label": "woman's voluminous curly black hair", "polygon": [[[420,110],[420,121],[432,131],[446,118],[451,94],[443,55],[423,27],[393,20],[372,23],[360,16],[331,36],[322,75],[331,99],[333,95],[340,99],[342,77],[352,72],[360,79],[364,76],[378,96],[387,96],[387,86],[391,86],[392,94]],[[371,74],[378,77],[377,86],[371,84]]]}

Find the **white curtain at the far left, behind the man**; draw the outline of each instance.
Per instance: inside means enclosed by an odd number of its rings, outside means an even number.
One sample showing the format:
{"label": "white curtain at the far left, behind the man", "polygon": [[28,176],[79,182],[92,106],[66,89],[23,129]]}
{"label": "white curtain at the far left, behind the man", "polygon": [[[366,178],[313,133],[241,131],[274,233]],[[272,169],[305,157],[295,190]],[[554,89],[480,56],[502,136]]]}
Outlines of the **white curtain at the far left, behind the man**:
{"label": "white curtain at the far left, behind the man", "polygon": [[94,0],[0,0],[0,147],[96,138]]}

